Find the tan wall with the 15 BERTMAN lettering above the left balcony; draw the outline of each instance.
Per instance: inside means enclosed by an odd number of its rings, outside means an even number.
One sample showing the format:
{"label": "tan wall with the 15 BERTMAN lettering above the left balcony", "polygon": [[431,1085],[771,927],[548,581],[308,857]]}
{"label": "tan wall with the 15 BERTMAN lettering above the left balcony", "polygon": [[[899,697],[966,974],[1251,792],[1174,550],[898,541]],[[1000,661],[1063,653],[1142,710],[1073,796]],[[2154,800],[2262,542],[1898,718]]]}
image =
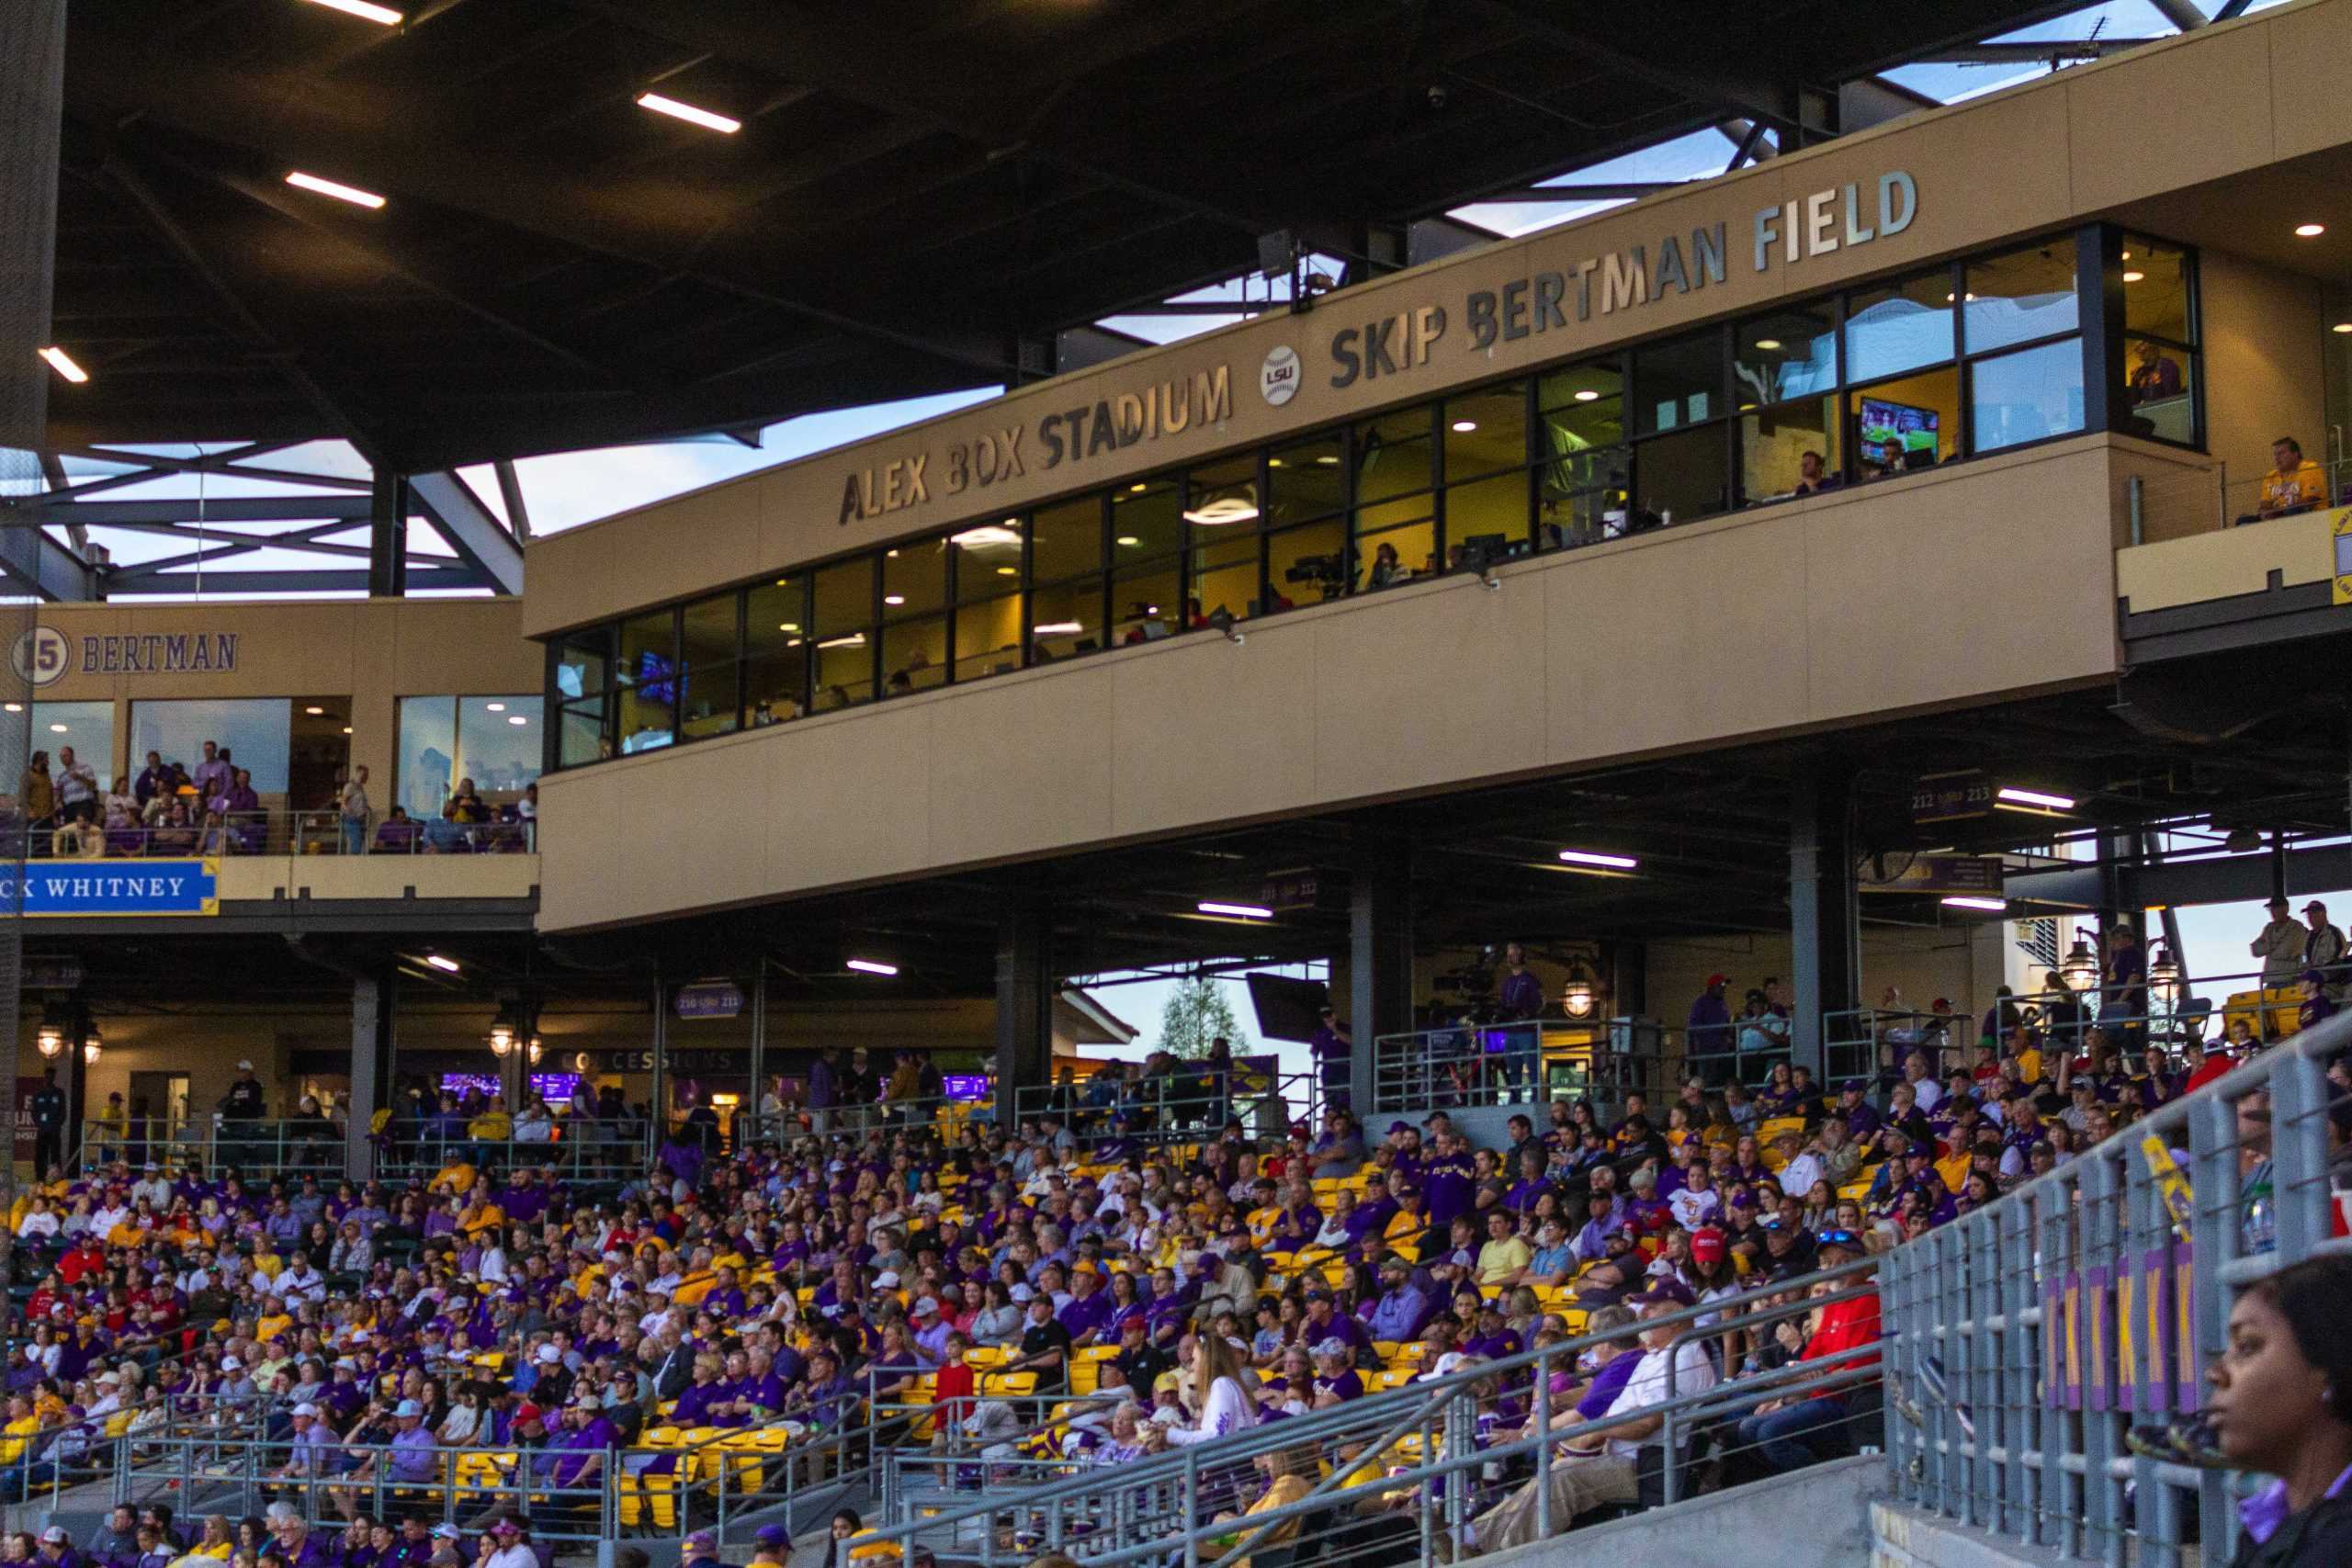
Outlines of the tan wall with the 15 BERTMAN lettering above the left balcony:
{"label": "tan wall with the 15 BERTMAN lettering above the left balcony", "polygon": [[[115,771],[132,703],[160,698],[350,698],[350,759],[365,764],[379,811],[390,802],[402,696],[513,696],[546,686],[546,658],[522,637],[520,599],[322,599],[315,604],[45,604],[73,649],[73,672],[42,703],[115,705]],[[82,637],[228,632],[238,668],[219,675],[80,675]],[[308,804],[308,802],[303,802]]]}

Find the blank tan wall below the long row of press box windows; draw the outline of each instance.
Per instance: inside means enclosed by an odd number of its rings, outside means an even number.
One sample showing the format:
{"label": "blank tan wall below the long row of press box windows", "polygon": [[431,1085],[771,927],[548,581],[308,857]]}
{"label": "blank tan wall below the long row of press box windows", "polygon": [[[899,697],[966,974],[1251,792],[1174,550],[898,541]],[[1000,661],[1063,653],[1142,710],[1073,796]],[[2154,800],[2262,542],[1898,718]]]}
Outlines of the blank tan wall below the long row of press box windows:
{"label": "blank tan wall below the long row of press box windows", "polygon": [[[557,773],[541,783],[541,924],[2107,677],[2110,447],[2051,442],[1515,562],[1494,592],[1468,576],[1411,583],[1251,623],[1242,646],[1178,637]],[[1938,614],[1987,583],[2002,616]]]}

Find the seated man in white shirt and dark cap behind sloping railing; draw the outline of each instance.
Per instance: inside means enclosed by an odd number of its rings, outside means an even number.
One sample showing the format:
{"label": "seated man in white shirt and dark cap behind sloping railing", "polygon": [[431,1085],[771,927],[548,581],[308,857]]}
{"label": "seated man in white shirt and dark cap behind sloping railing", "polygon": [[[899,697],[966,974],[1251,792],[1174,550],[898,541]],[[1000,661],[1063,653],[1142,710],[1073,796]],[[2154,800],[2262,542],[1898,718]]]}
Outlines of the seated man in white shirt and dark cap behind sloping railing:
{"label": "seated man in white shirt and dark cap behind sloping railing", "polygon": [[[1679,1345],[1675,1342],[1677,1335],[1691,1333],[1689,1324],[1656,1321],[1689,1305],[1679,1293],[1656,1288],[1649,1295],[1637,1295],[1628,1305],[1642,1314],[1642,1361],[1632,1368],[1632,1378],[1625,1380],[1625,1387],[1618,1392],[1616,1403],[1609,1406],[1609,1415],[1604,1418],[1621,1425],[1604,1427],[1602,1432],[1581,1432],[1581,1427],[1592,1422],[1564,1422],[1552,1427],[1552,1439],[1559,1441],[1562,1455],[1545,1465],[1545,1474],[1538,1474],[1510,1497],[1470,1521],[1468,1540],[1461,1542],[1463,1556],[1508,1552],[1510,1547],[1534,1542],[1538,1486],[1550,1486],[1552,1490],[1550,1512],[1555,1533],[1566,1530],[1578,1514],[1590,1514],[1592,1509],[1609,1505],[1639,1502],[1639,1453],[1644,1443],[1651,1443],[1658,1436],[1658,1429],[1665,1425],[1665,1415],[1644,1415],[1630,1422],[1623,1418],[1661,1406],[1668,1399],[1700,1394],[1712,1389],[1717,1380],[1715,1361],[1708,1359],[1703,1338],[1691,1335]],[[1672,1387],[1668,1387],[1670,1380]]]}

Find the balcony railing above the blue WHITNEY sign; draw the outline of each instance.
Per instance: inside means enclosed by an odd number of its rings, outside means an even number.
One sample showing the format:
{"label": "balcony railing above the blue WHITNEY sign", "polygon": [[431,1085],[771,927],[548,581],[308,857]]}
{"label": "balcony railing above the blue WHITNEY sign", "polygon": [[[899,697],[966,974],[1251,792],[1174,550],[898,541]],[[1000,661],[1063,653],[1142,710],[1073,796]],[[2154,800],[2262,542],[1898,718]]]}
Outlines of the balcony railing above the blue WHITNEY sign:
{"label": "balcony railing above the blue WHITNEY sign", "polygon": [[75,858],[195,858],[195,856],[475,856],[534,853],[539,823],[501,816],[487,823],[369,818],[346,823],[336,811],[193,813],[183,823],[108,820],[103,811],[80,827],[35,825],[26,851],[35,860]]}

